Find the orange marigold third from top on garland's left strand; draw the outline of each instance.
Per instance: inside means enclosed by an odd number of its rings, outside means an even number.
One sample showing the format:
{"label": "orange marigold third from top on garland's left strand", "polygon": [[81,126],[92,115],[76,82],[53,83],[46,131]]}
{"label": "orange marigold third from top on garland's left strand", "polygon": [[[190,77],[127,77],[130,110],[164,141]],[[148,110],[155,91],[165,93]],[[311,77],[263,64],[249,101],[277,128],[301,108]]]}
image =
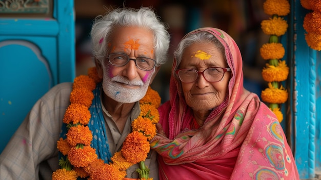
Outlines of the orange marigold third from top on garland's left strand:
{"label": "orange marigold third from top on garland's left strand", "polygon": [[89,108],[92,103],[92,99],[94,98],[94,94],[92,91],[86,88],[77,88],[73,89],[70,93],[70,103],[82,104]]}

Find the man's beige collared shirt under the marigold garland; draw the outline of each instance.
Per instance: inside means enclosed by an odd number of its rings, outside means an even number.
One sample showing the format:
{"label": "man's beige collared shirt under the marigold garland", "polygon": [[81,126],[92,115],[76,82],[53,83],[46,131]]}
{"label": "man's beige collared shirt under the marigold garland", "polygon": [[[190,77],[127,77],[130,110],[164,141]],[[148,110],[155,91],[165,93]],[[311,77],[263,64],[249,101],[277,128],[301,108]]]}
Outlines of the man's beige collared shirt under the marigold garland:
{"label": "man's beige collared shirt under the marigold garland", "polygon": [[[52,172],[59,168],[57,141],[65,111],[70,104],[71,90],[72,83],[59,84],[35,103],[0,155],[0,179],[51,179]],[[118,130],[104,106],[103,112],[108,144],[113,155],[121,150],[127,134],[131,132],[131,121],[140,112],[139,104],[137,102],[131,111],[123,133]],[[145,164],[150,168],[150,177],[157,180],[156,152],[149,153]],[[138,165],[130,167],[127,177],[137,178],[136,168]]]}

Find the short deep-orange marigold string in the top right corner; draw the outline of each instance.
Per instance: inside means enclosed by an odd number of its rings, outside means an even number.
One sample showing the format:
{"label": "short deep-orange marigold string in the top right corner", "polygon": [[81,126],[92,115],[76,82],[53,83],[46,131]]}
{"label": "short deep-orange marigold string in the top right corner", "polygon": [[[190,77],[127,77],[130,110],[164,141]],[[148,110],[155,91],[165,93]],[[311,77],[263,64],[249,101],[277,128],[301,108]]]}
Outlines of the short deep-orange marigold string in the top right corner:
{"label": "short deep-orange marigold string in the top right corner", "polygon": [[301,0],[305,9],[312,10],[304,17],[303,28],[307,31],[305,39],[308,46],[321,51],[321,2],[320,0]]}

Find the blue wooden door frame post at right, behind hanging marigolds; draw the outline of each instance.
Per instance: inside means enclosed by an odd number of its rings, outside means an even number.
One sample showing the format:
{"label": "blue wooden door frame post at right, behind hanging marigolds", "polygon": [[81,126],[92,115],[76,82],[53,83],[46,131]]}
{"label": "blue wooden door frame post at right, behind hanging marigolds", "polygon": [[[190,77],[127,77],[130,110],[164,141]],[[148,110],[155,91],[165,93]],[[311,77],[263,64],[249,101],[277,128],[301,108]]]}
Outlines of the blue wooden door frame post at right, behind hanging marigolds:
{"label": "blue wooden door frame post at right, behind hanging marigolds", "polygon": [[290,67],[287,130],[300,179],[312,179],[320,172],[321,53],[308,47],[303,28],[304,17],[311,12],[299,0],[289,1],[289,32],[282,39],[288,51]]}

